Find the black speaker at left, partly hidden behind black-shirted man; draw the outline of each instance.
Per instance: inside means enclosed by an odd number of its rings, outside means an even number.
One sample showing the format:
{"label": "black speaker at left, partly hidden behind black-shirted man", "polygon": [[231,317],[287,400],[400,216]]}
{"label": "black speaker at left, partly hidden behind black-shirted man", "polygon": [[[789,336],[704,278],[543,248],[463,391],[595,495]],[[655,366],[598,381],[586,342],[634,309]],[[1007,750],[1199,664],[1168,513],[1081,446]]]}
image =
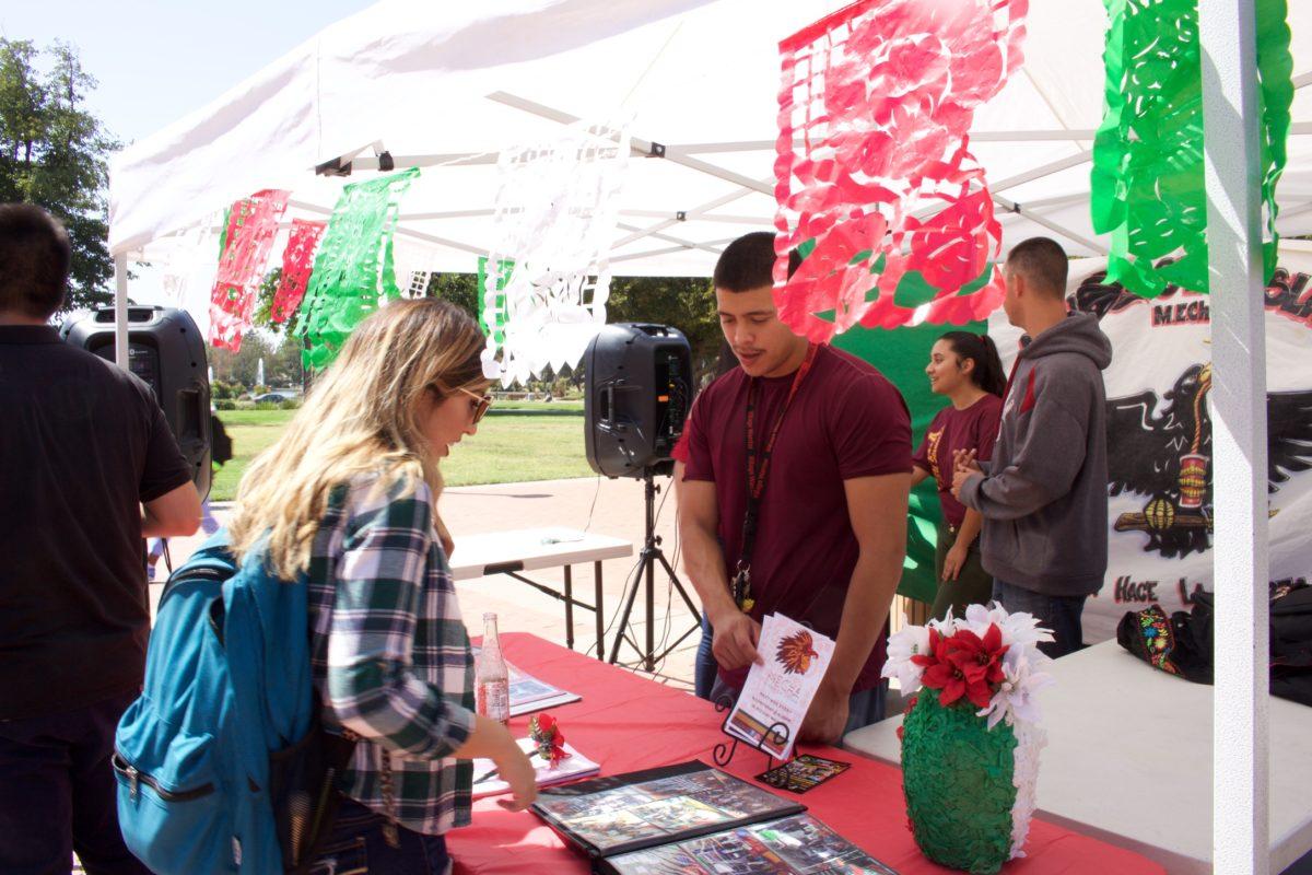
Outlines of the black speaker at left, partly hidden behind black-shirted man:
{"label": "black speaker at left, partly hidden behind black-shirted man", "polygon": [[[73,346],[114,361],[114,308],[101,307],[66,321],[60,337]],[[127,308],[127,366],[146,380],[164,411],[192,481],[210,495],[210,376],[205,338],[184,310]]]}

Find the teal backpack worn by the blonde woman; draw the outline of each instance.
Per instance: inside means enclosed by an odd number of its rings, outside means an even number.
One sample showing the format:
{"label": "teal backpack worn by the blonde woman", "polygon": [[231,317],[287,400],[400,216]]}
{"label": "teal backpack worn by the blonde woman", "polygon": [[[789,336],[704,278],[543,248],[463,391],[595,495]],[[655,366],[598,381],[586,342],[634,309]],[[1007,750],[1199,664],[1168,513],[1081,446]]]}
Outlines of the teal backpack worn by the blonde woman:
{"label": "teal backpack worn by the blonde woman", "polygon": [[127,847],[156,875],[304,871],[354,748],[318,715],[304,575],[239,567],[218,531],[169,577],[118,724]]}

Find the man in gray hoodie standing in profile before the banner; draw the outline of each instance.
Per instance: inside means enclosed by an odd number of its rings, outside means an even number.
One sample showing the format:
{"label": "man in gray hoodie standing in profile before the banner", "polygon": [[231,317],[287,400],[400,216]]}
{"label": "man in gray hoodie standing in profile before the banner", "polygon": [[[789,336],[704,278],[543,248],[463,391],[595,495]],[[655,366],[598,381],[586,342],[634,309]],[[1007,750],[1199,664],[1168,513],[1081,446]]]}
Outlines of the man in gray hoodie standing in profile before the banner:
{"label": "man in gray hoodie standing in profile before the banner", "polygon": [[953,493],[984,517],[980,552],[993,600],[1034,614],[1082,647],[1084,601],[1107,569],[1107,432],[1102,370],[1111,342],[1088,314],[1068,314],[1067,254],[1047,237],[1012,249],[1002,308],[1025,332],[1002,403],[993,458],[956,459]]}

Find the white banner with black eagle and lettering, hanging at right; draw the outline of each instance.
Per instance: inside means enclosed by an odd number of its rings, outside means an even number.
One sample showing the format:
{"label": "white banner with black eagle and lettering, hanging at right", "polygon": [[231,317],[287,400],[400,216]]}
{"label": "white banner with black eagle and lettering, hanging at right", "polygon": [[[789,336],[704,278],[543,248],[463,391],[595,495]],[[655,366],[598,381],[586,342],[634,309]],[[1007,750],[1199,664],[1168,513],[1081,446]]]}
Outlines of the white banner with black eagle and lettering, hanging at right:
{"label": "white banner with black eagle and lettering, hanging at right", "polygon": [[[1305,247],[1305,249],[1304,249]],[[1126,611],[1189,610],[1212,590],[1211,299],[1168,287],[1155,299],[1106,282],[1102,258],[1071,262],[1067,303],[1111,340],[1107,396],[1107,573],[1085,603],[1086,643]],[[1312,245],[1282,241],[1266,311],[1267,513],[1271,584],[1312,579]],[[1019,331],[989,317],[1004,366]]]}

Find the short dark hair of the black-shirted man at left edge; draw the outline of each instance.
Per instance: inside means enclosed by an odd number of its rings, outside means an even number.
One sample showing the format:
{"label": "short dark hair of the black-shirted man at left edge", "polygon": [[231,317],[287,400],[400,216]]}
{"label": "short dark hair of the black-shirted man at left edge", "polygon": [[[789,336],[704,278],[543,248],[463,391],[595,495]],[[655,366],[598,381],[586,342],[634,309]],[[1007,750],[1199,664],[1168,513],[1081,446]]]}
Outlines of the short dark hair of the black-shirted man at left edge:
{"label": "short dark hair of the black-shirted man at left edge", "polygon": [[64,303],[72,247],[64,226],[31,203],[0,203],[0,312],[50,319]]}

